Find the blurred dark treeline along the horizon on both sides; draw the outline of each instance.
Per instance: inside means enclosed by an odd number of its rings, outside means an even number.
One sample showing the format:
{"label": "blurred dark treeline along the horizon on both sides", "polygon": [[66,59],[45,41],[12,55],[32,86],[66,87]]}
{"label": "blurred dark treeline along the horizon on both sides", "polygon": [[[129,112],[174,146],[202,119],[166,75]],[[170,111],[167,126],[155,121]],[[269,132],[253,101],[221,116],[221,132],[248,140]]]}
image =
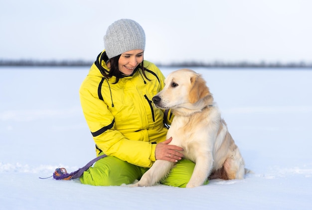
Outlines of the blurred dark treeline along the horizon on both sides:
{"label": "blurred dark treeline along the horizon on both sides", "polygon": [[[5,67],[86,67],[91,66],[93,61],[34,61],[34,60],[0,60],[0,66]],[[181,62],[156,64],[159,67],[206,67],[206,68],[312,68],[312,63],[305,62]]]}

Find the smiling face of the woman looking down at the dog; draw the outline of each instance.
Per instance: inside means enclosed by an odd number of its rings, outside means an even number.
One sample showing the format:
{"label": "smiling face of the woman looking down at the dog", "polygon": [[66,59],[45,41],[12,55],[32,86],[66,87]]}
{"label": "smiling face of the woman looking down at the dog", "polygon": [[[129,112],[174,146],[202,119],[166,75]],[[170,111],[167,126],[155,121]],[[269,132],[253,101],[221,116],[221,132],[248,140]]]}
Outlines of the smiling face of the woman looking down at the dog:
{"label": "smiling face of the woman looking down at the dog", "polygon": [[143,50],[131,50],[121,54],[118,60],[118,68],[120,72],[130,75],[143,61]]}

